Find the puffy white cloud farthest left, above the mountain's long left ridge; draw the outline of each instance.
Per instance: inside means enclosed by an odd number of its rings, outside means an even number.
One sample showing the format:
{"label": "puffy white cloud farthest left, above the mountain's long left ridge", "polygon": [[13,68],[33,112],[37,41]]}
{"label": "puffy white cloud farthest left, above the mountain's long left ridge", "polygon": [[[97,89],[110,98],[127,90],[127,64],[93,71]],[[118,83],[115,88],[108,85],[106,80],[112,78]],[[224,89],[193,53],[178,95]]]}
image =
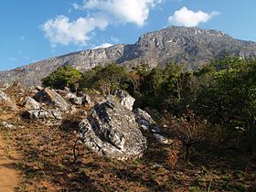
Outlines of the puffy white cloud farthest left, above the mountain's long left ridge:
{"label": "puffy white cloud farthest left, above the mountain's long left ridge", "polygon": [[69,21],[67,16],[57,16],[48,20],[41,26],[52,45],[57,44],[84,45],[90,39],[90,33],[96,28],[103,30],[108,26],[107,20],[102,17],[80,17],[77,20]]}

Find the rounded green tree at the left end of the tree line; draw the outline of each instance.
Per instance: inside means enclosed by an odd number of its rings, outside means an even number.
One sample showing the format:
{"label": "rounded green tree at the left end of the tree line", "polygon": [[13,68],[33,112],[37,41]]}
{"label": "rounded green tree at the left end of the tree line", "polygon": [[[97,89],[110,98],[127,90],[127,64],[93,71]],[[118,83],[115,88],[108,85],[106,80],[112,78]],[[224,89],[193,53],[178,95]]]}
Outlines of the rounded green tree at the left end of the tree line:
{"label": "rounded green tree at the left end of the tree line", "polygon": [[59,67],[52,72],[48,77],[42,80],[44,87],[63,90],[69,87],[71,91],[76,91],[81,79],[81,73],[78,69],[74,69],[69,65]]}

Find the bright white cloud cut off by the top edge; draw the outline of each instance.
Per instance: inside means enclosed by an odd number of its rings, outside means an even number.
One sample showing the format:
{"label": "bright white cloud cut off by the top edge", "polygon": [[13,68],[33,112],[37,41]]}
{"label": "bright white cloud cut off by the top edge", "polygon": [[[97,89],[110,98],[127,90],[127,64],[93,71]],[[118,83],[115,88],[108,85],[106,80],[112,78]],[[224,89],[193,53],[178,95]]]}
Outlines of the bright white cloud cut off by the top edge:
{"label": "bright white cloud cut off by the top edge", "polygon": [[150,9],[161,3],[161,0],[87,0],[83,9],[107,16],[115,23],[134,23],[144,26]]}

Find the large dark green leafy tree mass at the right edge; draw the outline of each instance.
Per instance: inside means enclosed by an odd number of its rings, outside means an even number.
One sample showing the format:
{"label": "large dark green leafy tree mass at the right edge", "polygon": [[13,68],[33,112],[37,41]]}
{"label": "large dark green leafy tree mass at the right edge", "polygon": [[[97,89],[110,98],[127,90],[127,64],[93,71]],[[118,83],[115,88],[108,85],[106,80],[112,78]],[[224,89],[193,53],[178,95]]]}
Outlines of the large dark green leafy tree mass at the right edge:
{"label": "large dark green leafy tree mass at the right edge", "polygon": [[203,74],[194,102],[197,115],[218,124],[219,138],[247,150],[255,148],[256,59],[226,58],[213,62],[215,70]]}

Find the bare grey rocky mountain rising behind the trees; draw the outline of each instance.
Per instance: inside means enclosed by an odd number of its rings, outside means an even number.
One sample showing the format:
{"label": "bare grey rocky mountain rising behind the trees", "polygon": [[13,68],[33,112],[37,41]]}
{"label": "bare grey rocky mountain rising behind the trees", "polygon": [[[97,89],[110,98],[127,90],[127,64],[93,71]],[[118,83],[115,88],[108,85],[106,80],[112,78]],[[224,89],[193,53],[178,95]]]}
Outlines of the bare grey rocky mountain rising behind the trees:
{"label": "bare grey rocky mountain rising behind the trees", "polygon": [[229,37],[217,30],[197,27],[166,27],[139,37],[135,44],[120,44],[45,59],[20,68],[0,71],[2,84],[20,81],[27,85],[40,80],[61,65],[80,70],[116,62],[128,68],[147,62],[151,67],[164,67],[168,62],[184,63],[187,69],[198,69],[211,59],[223,55],[242,58],[256,55],[256,43]]}

